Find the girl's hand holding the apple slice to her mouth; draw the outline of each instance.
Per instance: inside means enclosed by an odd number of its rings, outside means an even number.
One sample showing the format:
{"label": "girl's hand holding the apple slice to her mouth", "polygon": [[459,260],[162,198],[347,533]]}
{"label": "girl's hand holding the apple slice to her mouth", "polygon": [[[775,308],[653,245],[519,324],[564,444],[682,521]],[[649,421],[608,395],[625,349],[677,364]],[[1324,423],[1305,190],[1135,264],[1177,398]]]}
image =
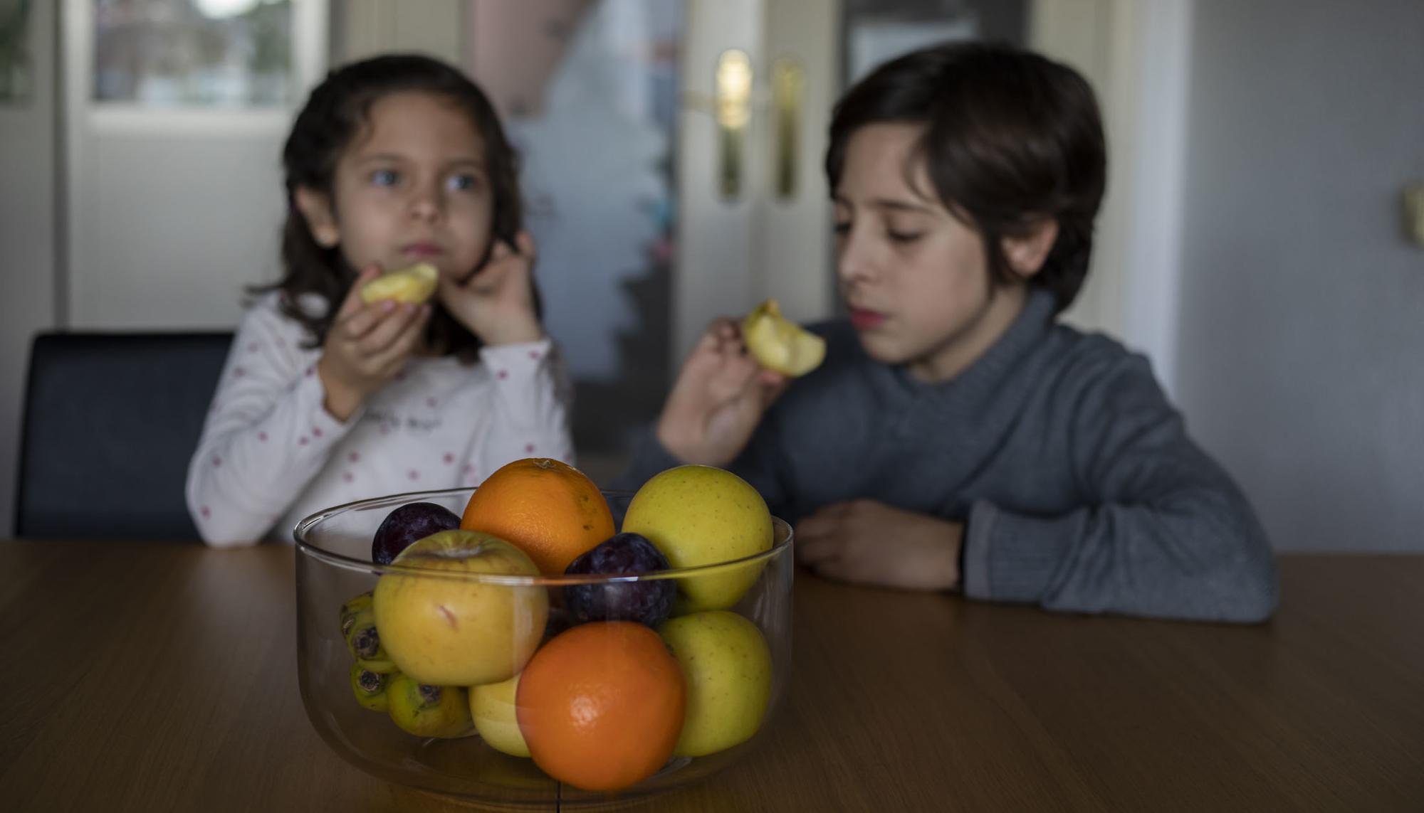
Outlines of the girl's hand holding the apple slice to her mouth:
{"label": "girl's hand holding the apple slice to her mouth", "polygon": [[400,372],[430,318],[429,304],[396,304],[389,300],[363,304],[360,287],[379,273],[380,269],[367,267],[352,283],[316,362],[316,374],[326,391],[322,405],[337,421],[350,418],[372,392]]}

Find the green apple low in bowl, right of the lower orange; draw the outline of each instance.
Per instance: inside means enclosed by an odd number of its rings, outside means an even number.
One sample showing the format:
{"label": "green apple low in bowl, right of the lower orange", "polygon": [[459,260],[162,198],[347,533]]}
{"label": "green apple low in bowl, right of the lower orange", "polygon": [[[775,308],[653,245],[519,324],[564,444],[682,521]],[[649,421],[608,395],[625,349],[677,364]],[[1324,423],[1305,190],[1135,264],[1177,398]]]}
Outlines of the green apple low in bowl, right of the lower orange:
{"label": "green apple low in bowl, right of the lower orange", "polygon": [[688,711],[672,753],[706,756],[752,739],[772,696],[772,651],[756,624],[712,610],[669,618],[658,634],[688,684]]}

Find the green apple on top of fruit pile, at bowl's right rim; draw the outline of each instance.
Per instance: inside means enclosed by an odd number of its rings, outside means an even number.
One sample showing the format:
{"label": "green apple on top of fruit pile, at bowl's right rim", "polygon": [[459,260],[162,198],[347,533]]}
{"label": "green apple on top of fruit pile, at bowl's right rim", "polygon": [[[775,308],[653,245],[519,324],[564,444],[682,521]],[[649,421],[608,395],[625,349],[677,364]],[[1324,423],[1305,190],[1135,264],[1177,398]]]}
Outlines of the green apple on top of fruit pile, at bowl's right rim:
{"label": "green apple on top of fruit pile, at bowl's right rim", "polygon": [[[743,559],[772,547],[772,513],[746,480],[713,466],[655,475],[628,503],[624,533],[641,533],[672,567]],[[685,611],[725,610],[762,573],[765,560],[679,580]]]}

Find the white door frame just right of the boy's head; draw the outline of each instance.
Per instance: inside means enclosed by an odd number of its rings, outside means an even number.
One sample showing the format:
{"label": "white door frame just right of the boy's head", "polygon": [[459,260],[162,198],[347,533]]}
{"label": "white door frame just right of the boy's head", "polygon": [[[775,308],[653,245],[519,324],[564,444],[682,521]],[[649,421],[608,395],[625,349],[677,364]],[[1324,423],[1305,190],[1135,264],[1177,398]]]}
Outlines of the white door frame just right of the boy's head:
{"label": "white door frame just right of the boy's head", "polygon": [[1152,361],[1176,391],[1183,131],[1192,0],[1038,0],[1028,41],[1092,84],[1108,139],[1108,189],[1092,266],[1064,320]]}

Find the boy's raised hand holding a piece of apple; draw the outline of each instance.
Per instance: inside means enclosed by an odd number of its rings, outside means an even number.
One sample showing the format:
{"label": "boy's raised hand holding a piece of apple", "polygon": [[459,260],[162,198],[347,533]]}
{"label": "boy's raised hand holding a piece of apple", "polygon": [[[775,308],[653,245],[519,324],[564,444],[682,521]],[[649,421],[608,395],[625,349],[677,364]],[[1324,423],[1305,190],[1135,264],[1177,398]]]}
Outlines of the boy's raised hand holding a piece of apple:
{"label": "boy's raised hand holding a piece of apple", "polygon": [[746,354],[736,323],[719,318],[682,362],[658,419],[658,442],[686,463],[725,466],[746,446],[786,382]]}

